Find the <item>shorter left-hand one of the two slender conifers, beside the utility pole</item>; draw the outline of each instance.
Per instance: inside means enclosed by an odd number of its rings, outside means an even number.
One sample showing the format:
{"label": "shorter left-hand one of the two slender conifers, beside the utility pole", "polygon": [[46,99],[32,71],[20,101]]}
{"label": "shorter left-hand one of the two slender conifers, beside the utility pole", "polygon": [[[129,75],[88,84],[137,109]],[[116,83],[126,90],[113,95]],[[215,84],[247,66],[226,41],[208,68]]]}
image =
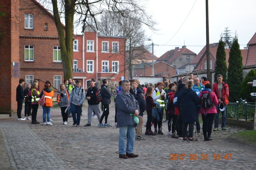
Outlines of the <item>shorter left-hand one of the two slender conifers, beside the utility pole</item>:
{"label": "shorter left-hand one of the two slender conifers, beside the utility pole", "polygon": [[216,68],[214,74],[214,82],[217,82],[217,75],[223,76],[223,81],[227,81],[227,63],[226,63],[226,52],[225,45],[222,38],[219,40],[217,53],[216,53]]}

